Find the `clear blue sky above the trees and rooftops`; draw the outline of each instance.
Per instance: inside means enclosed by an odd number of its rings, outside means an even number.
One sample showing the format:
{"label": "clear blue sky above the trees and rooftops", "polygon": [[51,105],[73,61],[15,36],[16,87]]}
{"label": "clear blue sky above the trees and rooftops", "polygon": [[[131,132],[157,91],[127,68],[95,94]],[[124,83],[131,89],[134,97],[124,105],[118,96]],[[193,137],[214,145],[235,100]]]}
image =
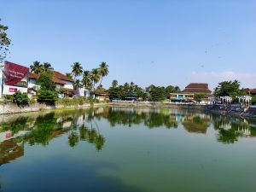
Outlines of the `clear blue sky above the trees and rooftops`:
{"label": "clear blue sky above the trees and rooftops", "polygon": [[256,88],[256,1],[0,0],[12,39],[8,61],[109,65],[108,87],[135,82],[209,83],[238,79]]}

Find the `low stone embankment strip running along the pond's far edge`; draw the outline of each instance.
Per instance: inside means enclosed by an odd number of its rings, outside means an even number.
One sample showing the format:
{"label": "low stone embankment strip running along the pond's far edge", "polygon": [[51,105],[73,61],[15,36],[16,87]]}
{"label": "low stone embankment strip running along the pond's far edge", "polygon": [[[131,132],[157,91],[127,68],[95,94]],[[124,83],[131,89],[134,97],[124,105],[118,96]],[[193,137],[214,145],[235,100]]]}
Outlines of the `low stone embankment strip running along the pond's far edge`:
{"label": "low stone embankment strip running along the pond's far edge", "polygon": [[256,118],[256,108],[249,110],[247,113],[236,111],[221,110],[212,108],[212,105],[202,104],[181,104],[181,103],[161,103],[161,102],[102,102],[93,104],[84,104],[78,106],[48,106],[41,103],[34,103],[26,107],[18,107],[15,103],[0,103],[0,115],[16,114],[16,113],[32,113],[40,111],[79,109],[79,108],[97,108],[97,107],[119,107],[119,108],[181,108],[201,110],[211,113],[219,113],[221,115],[239,116],[242,118]]}

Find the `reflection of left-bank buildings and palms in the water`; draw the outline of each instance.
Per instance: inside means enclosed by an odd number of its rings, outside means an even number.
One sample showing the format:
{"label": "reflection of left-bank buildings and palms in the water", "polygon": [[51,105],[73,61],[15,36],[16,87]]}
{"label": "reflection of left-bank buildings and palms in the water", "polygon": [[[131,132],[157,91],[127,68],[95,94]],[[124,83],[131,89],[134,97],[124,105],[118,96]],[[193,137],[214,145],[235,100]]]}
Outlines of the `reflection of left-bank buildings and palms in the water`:
{"label": "reflection of left-bank buildings and palms in the water", "polygon": [[[48,145],[55,137],[68,134],[68,143],[74,148],[81,142],[93,144],[102,150],[105,138],[96,125],[90,125],[90,115],[76,112],[44,113],[38,116],[20,116],[0,122],[0,165],[9,163],[25,153],[24,144]],[[89,122],[90,127],[85,125]]]}

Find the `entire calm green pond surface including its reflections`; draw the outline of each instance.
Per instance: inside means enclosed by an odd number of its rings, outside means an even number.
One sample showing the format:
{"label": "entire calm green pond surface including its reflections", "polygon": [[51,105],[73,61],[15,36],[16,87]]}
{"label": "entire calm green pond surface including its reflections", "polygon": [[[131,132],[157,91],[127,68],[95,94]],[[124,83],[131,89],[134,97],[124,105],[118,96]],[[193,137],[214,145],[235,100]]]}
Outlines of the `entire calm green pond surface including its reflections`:
{"label": "entire calm green pond surface including its reflections", "polygon": [[0,191],[255,192],[256,122],[179,109],[0,116]]}

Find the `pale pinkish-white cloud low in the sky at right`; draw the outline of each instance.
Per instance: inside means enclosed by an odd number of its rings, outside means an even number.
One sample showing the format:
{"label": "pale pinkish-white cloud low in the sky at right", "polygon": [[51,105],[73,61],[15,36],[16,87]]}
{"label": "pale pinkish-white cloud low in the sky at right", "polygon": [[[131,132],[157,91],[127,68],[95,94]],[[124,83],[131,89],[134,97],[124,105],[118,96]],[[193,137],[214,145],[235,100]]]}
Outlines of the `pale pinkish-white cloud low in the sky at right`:
{"label": "pale pinkish-white cloud low in the sky at right", "polygon": [[205,82],[213,89],[221,81],[235,80],[241,82],[241,87],[256,88],[256,73],[226,72],[193,72],[191,80],[195,82]]}

